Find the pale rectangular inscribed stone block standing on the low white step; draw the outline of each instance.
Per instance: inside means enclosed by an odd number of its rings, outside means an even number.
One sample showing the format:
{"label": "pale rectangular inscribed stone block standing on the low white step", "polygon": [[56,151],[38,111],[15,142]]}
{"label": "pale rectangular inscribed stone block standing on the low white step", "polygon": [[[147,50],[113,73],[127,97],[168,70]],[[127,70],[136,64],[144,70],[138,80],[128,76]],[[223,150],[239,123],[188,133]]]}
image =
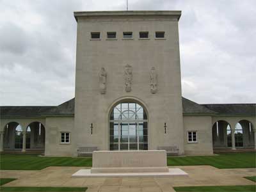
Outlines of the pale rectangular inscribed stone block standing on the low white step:
{"label": "pale rectangular inscribed stone block standing on the low white step", "polygon": [[92,173],[168,172],[165,150],[95,151]]}

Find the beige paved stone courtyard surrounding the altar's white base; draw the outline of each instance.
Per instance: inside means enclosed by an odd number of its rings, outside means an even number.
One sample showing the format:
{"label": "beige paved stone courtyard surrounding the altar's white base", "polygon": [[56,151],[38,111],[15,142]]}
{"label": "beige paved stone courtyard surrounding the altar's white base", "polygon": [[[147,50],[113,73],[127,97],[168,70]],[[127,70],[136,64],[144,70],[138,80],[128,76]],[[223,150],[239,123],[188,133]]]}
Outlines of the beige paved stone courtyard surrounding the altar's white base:
{"label": "beige paved stone courtyard surrounding the altar's white base", "polygon": [[[4,186],[86,186],[92,191],[174,191],[175,186],[223,186],[252,185],[255,182],[244,179],[256,175],[255,168],[218,169],[212,166],[170,166],[180,168],[189,177],[170,178],[71,178],[84,167],[52,166],[39,171],[0,170],[1,178],[17,178]],[[87,167],[88,168],[88,167]]]}

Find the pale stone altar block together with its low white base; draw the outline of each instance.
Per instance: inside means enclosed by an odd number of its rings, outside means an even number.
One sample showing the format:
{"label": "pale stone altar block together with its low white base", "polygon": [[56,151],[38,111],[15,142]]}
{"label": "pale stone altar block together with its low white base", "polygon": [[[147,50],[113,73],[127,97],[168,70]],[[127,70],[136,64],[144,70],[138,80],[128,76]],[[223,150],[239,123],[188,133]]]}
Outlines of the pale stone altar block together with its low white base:
{"label": "pale stone altar block together with its low white base", "polygon": [[72,177],[177,177],[188,176],[179,168],[168,168],[166,150],[94,151],[92,169]]}

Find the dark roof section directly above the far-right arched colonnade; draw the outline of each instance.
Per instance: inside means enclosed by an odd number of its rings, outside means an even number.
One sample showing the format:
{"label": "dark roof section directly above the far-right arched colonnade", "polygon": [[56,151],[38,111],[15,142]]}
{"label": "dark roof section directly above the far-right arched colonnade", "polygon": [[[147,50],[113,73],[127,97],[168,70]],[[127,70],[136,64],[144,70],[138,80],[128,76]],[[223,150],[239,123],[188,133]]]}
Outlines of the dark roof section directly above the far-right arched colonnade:
{"label": "dark roof section directly above the far-right arched colonnade", "polygon": [[202,104],[218,115],[256,115],[256,104]]}

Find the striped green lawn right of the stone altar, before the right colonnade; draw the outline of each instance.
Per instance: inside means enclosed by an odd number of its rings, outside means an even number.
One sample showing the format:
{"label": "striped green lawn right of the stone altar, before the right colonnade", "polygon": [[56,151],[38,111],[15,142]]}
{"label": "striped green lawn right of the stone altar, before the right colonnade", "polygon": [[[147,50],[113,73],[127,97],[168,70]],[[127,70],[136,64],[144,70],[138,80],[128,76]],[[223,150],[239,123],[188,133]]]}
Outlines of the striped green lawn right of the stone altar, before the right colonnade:
{"label": "striped green lawn right of the stone altar, before the right colonnade", "polygon": [[172,165],[211,165],[216,168],[255,168],[256,153],[220,154],[220,156],[189,156],[168,157],[169,166]]}

